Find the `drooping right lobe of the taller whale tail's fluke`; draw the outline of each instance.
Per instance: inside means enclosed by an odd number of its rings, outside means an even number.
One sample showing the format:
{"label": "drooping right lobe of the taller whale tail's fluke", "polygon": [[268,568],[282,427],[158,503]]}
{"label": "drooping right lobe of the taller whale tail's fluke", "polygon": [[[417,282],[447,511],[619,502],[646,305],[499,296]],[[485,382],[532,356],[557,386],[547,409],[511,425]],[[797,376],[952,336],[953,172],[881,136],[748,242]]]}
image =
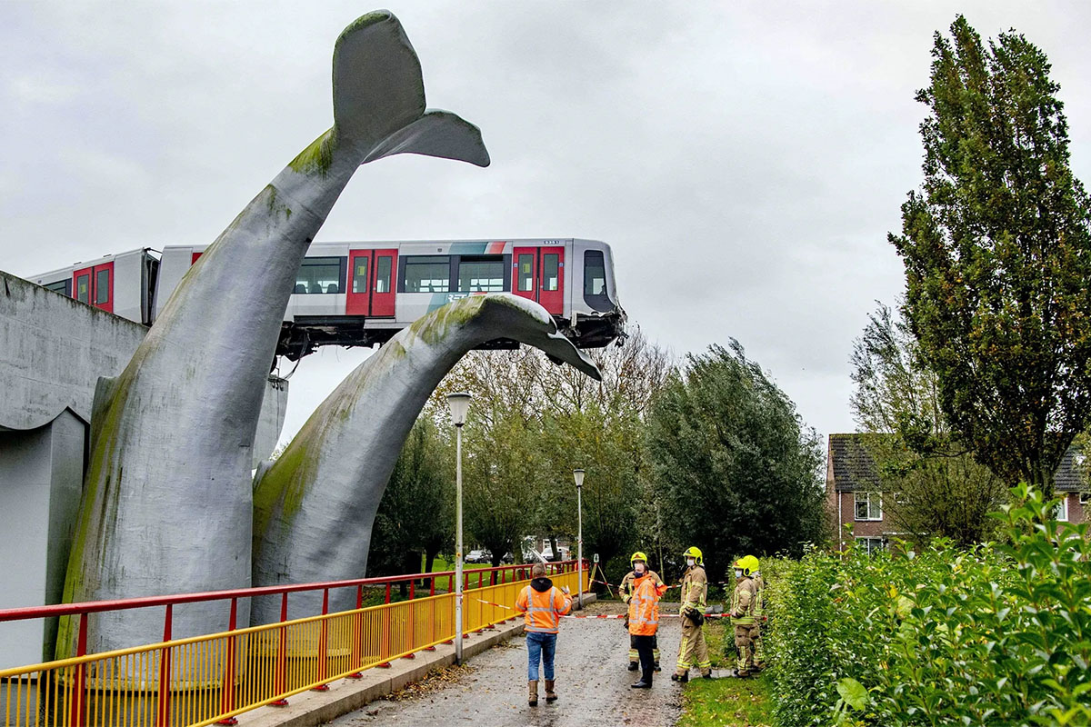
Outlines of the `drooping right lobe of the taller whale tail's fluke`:
{"label": "drooping right lobe of the taller whale tail's fluke", "polygon": [[489,166],[489,150],[481,141],[481,130],[451,111],[430,109],[420,119],[384,138],[364,163],[395,154],[423,154],[429,157]]}

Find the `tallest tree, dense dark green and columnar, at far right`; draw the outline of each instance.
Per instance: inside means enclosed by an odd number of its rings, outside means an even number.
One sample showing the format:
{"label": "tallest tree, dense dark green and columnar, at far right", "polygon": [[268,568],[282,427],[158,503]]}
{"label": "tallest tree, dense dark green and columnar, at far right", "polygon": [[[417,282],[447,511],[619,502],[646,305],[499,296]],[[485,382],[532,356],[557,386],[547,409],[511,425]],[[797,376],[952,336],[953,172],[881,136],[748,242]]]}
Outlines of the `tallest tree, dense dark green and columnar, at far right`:
{"label": "tallest tree, dense dark green and columnar, at far right", "polygon": [[916,96],[924,185],[889,235],[904,311],[959,438],[1052,496],[1091,413],[1088,197],[1045,53],[1015,32],[986,49],[961,15],[950,34]]}

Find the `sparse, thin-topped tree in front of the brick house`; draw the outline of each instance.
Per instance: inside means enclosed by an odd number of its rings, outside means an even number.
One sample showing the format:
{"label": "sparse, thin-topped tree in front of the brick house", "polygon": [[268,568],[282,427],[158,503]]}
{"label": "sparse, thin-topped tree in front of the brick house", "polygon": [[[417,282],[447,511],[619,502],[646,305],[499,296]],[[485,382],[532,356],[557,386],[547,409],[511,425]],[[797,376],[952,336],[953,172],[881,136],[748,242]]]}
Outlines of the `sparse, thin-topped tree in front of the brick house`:
{"label": "sparse, thin-topped tree in front of the brick house", "polygon": [[879,304],[853,344],[851,364],[850,404],[860,431],[873,435],[860,446],[877,465],[884,517],[911,540],[988,540],[996,526],[987,513],[1007,489],[952,436],[936,375],[904,316]]}

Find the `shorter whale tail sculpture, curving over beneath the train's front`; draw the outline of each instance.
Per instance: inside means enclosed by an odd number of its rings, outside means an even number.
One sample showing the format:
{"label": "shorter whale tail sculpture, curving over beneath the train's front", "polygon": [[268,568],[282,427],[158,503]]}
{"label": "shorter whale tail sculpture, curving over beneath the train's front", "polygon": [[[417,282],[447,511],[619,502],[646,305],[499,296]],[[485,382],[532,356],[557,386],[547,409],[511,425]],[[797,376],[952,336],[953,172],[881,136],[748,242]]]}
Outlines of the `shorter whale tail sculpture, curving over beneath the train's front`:
{"label": "shorter whale tail sculpture, curving over beneath the train's front", "polygon": [[[371,528],[401,445],[444,375],[470,349],[507,338],[588,376],[598,368],[556,330],[540,305],[509,293],[464,298],[394,336],[331,393],[280,457],[254,478],[254,585],[359,578]],[[351,608],[351,589],[331,610]],[[252,622],[278,611],[255,603]],[[292,614],[314,613],[297,594]]]}

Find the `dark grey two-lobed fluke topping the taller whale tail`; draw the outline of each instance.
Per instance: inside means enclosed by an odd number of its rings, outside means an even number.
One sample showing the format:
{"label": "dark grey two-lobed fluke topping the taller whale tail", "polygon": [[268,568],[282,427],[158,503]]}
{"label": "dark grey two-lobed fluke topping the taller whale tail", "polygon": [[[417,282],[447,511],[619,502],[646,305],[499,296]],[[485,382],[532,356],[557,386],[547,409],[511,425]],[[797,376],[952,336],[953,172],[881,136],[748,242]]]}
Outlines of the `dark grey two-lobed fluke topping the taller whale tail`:
{"label": "dark grey two-lobed fluke topping the taller whale tail", "polygon": [[350,24],[334,47],[334,138],[364,153],[489,166],[481,130],[449,111],[424,108],[420,60],[398,19],[382,10]]}

